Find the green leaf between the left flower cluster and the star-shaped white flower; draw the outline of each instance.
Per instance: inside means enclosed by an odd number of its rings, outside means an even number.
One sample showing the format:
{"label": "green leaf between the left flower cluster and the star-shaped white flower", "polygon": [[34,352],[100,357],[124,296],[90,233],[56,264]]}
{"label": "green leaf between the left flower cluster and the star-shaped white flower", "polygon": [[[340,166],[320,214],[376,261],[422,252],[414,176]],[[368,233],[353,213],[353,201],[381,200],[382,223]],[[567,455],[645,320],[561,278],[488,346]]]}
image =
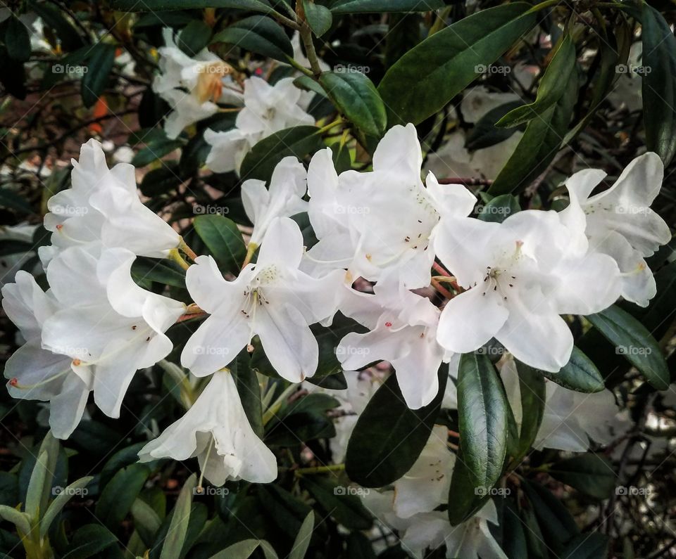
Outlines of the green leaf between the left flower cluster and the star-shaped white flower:
{"label": "green leaf between the left flower cluster and the star-shaped white flower", "polygon": [[200,215],[193,225],[221,271],[237,274],[246,258],[246,245],[234,221],[222,215]]}

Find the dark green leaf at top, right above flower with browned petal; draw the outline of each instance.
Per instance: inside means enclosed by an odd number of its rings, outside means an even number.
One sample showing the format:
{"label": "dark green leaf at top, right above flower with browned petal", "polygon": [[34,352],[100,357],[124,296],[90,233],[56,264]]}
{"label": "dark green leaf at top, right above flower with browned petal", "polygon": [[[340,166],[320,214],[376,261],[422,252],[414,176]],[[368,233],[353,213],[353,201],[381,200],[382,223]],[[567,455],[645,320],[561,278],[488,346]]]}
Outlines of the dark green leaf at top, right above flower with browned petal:
{"label": "dark green leaf at top, right above flower with browned petal", "polygon": [[237,45],[282,62],[286,62],[287,57],[294,57],[294,47],[282,26],[265,15],[240,20],[215,34],[211,42]]}

